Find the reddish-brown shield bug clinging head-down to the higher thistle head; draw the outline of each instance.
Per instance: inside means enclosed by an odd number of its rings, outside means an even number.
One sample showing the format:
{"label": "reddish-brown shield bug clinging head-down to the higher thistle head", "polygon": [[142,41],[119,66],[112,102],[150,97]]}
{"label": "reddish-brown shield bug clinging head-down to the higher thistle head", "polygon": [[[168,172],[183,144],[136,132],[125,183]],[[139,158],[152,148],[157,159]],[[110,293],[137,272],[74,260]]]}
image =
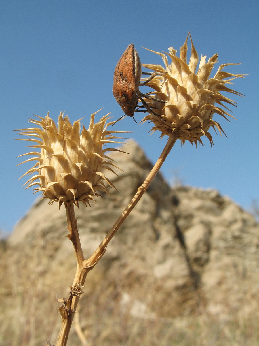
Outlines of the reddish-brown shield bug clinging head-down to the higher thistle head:
{"label": "reddish-brown shield bug clinging head-down to the higher thistle head", "polygon": [[[141,83],[141,74],[149,74],[150,77],[145,82]],[[113,78],[113,95],[127,116],[134,119],[134,113],[139,111],[136,110],[137,107],[145,107],[147,111],[159,116],[148,106],[143,100],[143,97],[163,103],[165,103],[165,101],[143,94],[139,90],[139,86],[150,82],[156,75],[162,74],[158,72],[141,72],[140,57],[138,52],[134,49],[133,43],[131,43],[118,61]],[[138,100],[142,101],[143,106],[138,105]],[[146,112],[146,110],[142,112]],[[136,122],[135,119],[134,121]]]}

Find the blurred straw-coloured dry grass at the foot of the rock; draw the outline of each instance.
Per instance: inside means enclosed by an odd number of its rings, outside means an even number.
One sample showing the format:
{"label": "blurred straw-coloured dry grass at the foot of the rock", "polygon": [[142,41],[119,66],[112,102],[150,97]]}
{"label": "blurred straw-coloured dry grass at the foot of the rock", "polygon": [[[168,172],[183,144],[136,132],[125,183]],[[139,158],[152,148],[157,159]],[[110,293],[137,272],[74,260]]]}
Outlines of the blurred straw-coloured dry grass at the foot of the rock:
{"label": "blurred straw-coloured dry grass at the foot of the rock", "polygon": [[[41,250],[40,250],[41,249]],[[54,343],[60,327],[60,316],[53,292],[51,275],[40,258],[44,252],[40,238],[31,258],[38,258],[38,270],[31,272],[29,262],[17,261],[2,247],[0,346],[45,346],[46,338]],[[8,261],[9,259],[9,261]],[[28,260],[28,258],[27,258]],[[3,264],[5,263],[5,265]],[[44,260],[42,260],[44,263]],[[23,270],[22,270],[23,268]],[[161,288],[143,285],[143,300],[123,302],[126,282],[116,275],[102,280],[102,273],[89,275],[81,297],[78,320],[81,341],[72,327],[68,345],[83,346],[257,346],[259,344],[258,304],[248,317],[229,310],[228,316],[209,314],[202,293],[179,297],[178,305]],[[50,268],[51,272],[51,268]],[[116,278],[116,279],[115,279]],[[132,278],[131,278],[132,279]],[[59,281],[58,274],[55,279]],[[49,294],[48,292],[51,291]],[[61,288],[57,287],[57,291]],[[130,291],[129,291],[130,293]],[[58,297],[60,298],[60,297]],[[172,297],[173,298],[173,297]],[[175,297],[174,297],[175,298]],[[251,297],[248,297],[251,299]],[[152,312],[142,305],[153,304]],[[164,301],[164,304],[163,304]],[[245,301],[243,304],[249,303]],[[144,306],[143,305],[143,306]],[[165,309],[166,307],[166,309]],[[171,312],[170,312],[171,310]],[[137,316],[137,314],[139,316]],[[170,317],[173,316],[173,317]],[[85,340],[83,342],[83,340]]]}

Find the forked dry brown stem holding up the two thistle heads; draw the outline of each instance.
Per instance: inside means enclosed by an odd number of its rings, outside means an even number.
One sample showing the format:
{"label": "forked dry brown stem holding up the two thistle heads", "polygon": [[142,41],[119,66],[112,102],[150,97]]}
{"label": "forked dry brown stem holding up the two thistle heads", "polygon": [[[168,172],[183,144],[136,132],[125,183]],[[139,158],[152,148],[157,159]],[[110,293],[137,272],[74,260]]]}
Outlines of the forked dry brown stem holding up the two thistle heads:
{"label": "forked dry brown stem holding up the two thistle heads", "polygon": [[[95,252],[88,258],[84,259],[83,250],[80,243],[80,238],[77,229],[77,220],[75,218],[74,204],[71,202],[65,203],[67,222],[68,222],[68,231],[69,234],[67,237],[71,240],[75,250],[75,256],[77,261],[77,270],[73,282],[73,286],[70,287],[70,293],[67,300],[64,301],[64,305],[59,308],[59,312],[62,317],[62,324],[59,331],[59,336],[56,346],[66,346],[67,339],[72,325],[72,321],[76,312],[77,304],[80,298],[82,286],[84,285],[87,273],[93,269],[93,267],[98,263],[100,258],[105,253],[108,243],[113,238],[114,234],[117,232],[119,227],[125,221],[127,216],[130,214],[132,209],[136,206],[137,202],[141,199],[143,193],[146,191],[152,180],[154,179],[157,172],[160,170],[163,162],[165,161],[167,155],[170,153],[174,143],[176,142],[177,137],[170,136],[159,159],[155,163],[151,172],[146,177],[143,184],[138,188],[135,196],[132,198],[130,204],[122,212],[121,216],[115,222],[111,230],[108,232],[106,237],[103,239],[102,243],[98,246]],[[48,344],[47,344],[48,345]]]}

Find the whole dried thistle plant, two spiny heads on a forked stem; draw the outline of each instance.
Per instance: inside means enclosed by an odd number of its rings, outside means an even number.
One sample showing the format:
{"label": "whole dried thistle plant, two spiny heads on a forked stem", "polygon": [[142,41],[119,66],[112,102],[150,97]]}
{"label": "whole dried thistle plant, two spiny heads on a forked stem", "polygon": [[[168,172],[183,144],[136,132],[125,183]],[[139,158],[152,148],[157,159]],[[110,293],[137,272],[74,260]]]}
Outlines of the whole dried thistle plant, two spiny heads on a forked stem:
{"label": "whole dried thistle plant, two spiny heads on a forked stem", "polygon": [[[34,174],[25,185],[27,184],[27,188],[39,185],[35,188],[35,192],[41,192],[44,197],[50,200],[50,204],[55,201],[59,203],[59,207],[62,203],[65,204],[69,232],[67,237],[74,246],[77,261],[77,269],[73,284],[70,285],[68,298],[59,299],[59,302],[63,304],[58,309],[62,317],[62,323],[56,346],[67,345],[71,324],[75,316],[80,295],[83,293],[82,288],[84,287],[88,272],[102,258],[107,245],[143,196],[176,140],[180,139],[183,144],[185,140],[188,140],[192,144],[195,143],[197,145],[198,142],[202,144],[201,137],[205,135],[209,138],[212,145],[212,137],[208,132],[209,128],[212,127],[214,130],[218,129],[220,133],[221,131],[224,133],[220,124],[212,120],[213,114],[218,113],[227,119],[227,116],[231,117],[231,115],[226,111],[228,108],[222,102],[232,105],[235,103],[231,99],[223,96],[220,92],[225,91],[241,95],[239,92],[228,88],[226,84],[232,84],[232,80],[243,77],[243,75],[223,71],[224,66],[235,64],[220,65],[215,76],[210,78],[210,73],[214,64],[217,62],[218,54],[213,55],[208,63],[205,62],[206,56],[202,57],[198,71],[196,72],[199,57],[191,40],[190,62],[189,65],[186,63],[188,37],[184,45],[180,48],[180,58],[176,56],[175,49],[172,47],[169,48],[169,54],[167,55],[171,58],[171,64],[168,63],[166,54],[154,52],[162,56],[165,68],[161,65],[143,64],[144,67],[162,74],[159,76],[152,74],[152,78],[145,80],[146,83],[139,83],[140,74],[135,74],[136,66],[139,67],[139,63],[130,65],[130,75],[133,76],[134,82],[137,82],[137,87],[134,85],[133,91],[139,96],[138,99],[142,102],[144,100],[144,107],[150,111],[150,114],[143,121],[151,120],[154,124],[152,130],[160,130],[162,133],[161,136],[168,135],[169,138],[151,172],[142,185],[139,186],[131,202],[89,258],[85,259],[81,247],[74,204],[78,207],[79,201],[82,201],[87,205],[90,200],[94,200],[94,197],[99,195],[97,193],[98,190],[103,190],[108,193],[107,184],[113,186],[111,181],[105,176],[103,170],[108,169],[115,173],[111,167],[115,165],[105,153],[106,151],[119,150],[111,148],[104,149],[103,145],[121,143],[116,142],[114,139],[123,137],[117,137],[114,134],[124,131],[108,131],[107,127],[115,123],[113,121],[106,125],[106,121],[109,119],[108,115],[94,124],[96,113],[91,115],[88,130],[83,125],[81,133],[81,119],[71,125],[68,117],[64,117],[61,113],[58,117],[58,126],[47,115],[45,118],[37,117],[39,120],[30,119],[30,122],[38,127],[21,130],[21,135],[30,137],[23,140],[35,142],[34,145],[29,147],[40,149],[40,152],[32,151],[21,155],[35,155],[24,162],[36,161],[36,164],[24,174]],[[134,51],[134,46],[130,45],[129,47],[131,47],[130,57],[133,56],[133,53],[135,56],[137,53]],[[128,60],[130,61],[130,58]],[[121,67],[120,61],[119,66],[117,65],[118,67]],[[125,60],[123,59],[123,61]],[[118,69],[119,73],[117,76],[121,76],[121,72],[127,72],[124,64],[122,67],[122,69]],[[127,76],[126,72],[123,77]],[[126,80],[126,78],[124,79]],[[118,81],[115,80],[115,82]],[[146,84],[153,88],[156,99],[150,97],[148,94],[144,95],[140,93],[138,86],[141,84]],[[127,94],[127,89],[124,89],[122,90],[122,96]],[[121,89],[119,89],[119,92],[121,92]],[[121,94],[115,93],[115,96],[117,95]],[[145,99],[144,96],[146,96]],[[121,105],[125,106],[124,98],[119,98],[119,101]],[[133,116],[137,107],[135,99],[133,101],[130,105],[133,107],[133,110],[127,114],[130,116]],[[217,107],[215,103],[218,104]],[[128,104],[126,105],[128,106]],[[154,108],[155,112],[153,111]],[[47,342],[47,345],[50,345],[50,343]]]}

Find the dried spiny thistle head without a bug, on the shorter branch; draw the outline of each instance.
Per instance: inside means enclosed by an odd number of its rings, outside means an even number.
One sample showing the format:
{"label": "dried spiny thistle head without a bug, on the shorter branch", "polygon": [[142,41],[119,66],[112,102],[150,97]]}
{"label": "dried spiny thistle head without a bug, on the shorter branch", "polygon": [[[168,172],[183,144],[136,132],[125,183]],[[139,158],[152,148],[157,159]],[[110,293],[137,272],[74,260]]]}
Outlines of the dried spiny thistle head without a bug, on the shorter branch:
{"label": "dried spiny thistle head without a bug, on the shorter branch", "polygon": [[108,115],[94,124],[96,113],[91,115],[88,130],[83,125],[81,132],[81,119],[72,125],[69,118],[64,117],[61,112],[58,117],[58,126],[49,117],[49,113],[45,118],[37,116],[39,120],[29,120],[39,127],[22,129],[20,134],[30,137],[22,140],[35,142],[36,144],[29,147],[40,148],[40,152],[33,151],[20,155],[36,155],[22,162],[37,161],[23,175],[36,173],[24,184],[28,185],[26,189],[39,185],[33,191],[42,192],[44,197],[50,199],[49,203],[57,201],[60,207],[64,202],[73,202],[78,206],[78,202],[82,201],[87,205],[89,200],[94,200],[94,196],[99,195],[96,191],[107,192],[104,182],[114,186],[103,171],[108,169],[115,173],[111,168],[115,165],[105,153],[118,151],[118,149],[104,149],[103,145],[121,143],[114,141],[116,138],[122,138],[114,136],[121,131],[107,130],[107,127],[114,123],[110,122],[106,125],[106,121],[110,119]]}

